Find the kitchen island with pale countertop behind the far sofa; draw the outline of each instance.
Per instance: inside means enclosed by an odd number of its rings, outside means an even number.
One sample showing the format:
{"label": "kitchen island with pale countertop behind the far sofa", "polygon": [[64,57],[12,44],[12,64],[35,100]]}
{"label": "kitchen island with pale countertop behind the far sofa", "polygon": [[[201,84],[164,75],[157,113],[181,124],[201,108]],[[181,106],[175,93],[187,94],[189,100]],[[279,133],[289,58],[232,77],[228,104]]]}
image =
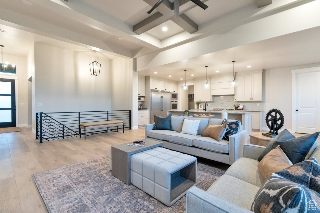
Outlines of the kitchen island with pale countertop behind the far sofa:
{"label": "kitchen island with pale countertop behind the far sofa", "polygon": [[[182,116],[184,110],[168,110],[168,114]],[[189,110],[190,116],[195,114],[211,114],[214,115],[213,118],[222,118],[221,110]],[[241,111],[241,110],[228,110],[228,119],[239,120],[243,126],[244,130],[248,132],[248,139],[250,139],[250,134],[252,133],[252,112]]]}

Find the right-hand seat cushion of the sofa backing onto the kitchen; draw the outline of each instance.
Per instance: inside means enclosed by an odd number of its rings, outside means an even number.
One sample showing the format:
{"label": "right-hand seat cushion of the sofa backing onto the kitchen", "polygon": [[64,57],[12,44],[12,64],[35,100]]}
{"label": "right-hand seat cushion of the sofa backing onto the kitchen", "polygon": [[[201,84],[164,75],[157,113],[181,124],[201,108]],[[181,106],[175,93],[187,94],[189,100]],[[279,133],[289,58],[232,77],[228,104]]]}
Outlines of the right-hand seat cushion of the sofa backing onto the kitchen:
{"label": "right-hand seat cushion of the sofa backing onto the kitchen", "polygon": [[200,137],[193,139],[192,145],[197,148],[202,148],[213,152],[224,154],[229,153],[229,141],[226,140],[221,140],[220,142],[218,142],[217,140],[210,137]]}

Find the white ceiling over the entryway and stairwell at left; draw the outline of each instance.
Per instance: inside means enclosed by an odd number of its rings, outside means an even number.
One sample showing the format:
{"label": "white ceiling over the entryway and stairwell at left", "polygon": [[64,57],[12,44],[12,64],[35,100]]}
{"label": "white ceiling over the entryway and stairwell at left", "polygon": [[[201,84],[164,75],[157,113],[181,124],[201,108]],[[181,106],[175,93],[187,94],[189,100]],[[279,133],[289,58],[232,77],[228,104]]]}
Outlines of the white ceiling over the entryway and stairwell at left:
{"label": "white ceiling over the entryway and stairwell at left", "polygon": [[[0,29],[6,31],[0,32],[0,44],[4,45],[3,52],[7,55],[27,57],[34,42],[47,44],[61,49],[68,49],[74,52],[92,52],[92,50],[88,48],[80,47],[68,42],[62,42],[56,39],[30,33],[13,27],[4,26],[1,24]],[[97,52],[97,55],[100,55],[100,57],[105,57],[109,60],[117,58],[116,56],[102,52]]]}

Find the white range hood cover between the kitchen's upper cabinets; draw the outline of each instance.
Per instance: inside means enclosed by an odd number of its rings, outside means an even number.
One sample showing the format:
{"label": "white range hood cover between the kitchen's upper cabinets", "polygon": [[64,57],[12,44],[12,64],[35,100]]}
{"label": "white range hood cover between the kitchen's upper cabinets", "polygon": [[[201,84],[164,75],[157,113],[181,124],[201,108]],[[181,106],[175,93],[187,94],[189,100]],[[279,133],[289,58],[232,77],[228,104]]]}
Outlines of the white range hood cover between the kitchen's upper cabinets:
{"label": "white range hood cover between the kitchen's upper cabinets", "polygon": [[211,78],[211,95],[234,95],[235,89],[230,87],[232,75]]}

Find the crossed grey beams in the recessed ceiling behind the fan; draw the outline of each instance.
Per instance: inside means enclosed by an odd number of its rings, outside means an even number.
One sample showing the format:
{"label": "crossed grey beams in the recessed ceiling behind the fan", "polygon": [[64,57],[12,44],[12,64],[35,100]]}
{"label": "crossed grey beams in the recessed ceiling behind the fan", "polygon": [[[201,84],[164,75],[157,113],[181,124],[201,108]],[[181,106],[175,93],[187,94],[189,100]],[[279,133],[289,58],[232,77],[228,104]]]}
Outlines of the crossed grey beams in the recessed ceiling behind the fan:
{"label": "crossed grey beams in the recessed ceiling behind the fan", "polygon": [[[153,6],[158,2],[157,0],[143,1],[145,1],[150,6]],[[203,2],[206,1],[208,0],[203,0]],[[180,0],[179,6],[188,2],[190,2],[190,0]],[[193,3],[190,4],[190,6],[187,9],[185,9],[184,11],[180,11],[181,14],[178,16],[178,18],[175,18],[175,15],[177,14],[172,12],[174,10],[174,6],[174,3],[171,3],[169,0],[165,0],[163,4],[160,4],[156,9],[158,13],[162,14],[162,16],[160,16],[159,14],[154,14],[155,16],[150,16],[147,19],[142,20],[141,22],[133,26],[133,32],[140,35],[168,20],[172,20],[174,23],[179,25],[181,28],[183,28],[190,34],[198,31],[197,24],[194,21],[192,21],[186,14],[184,14],[184,12],[196,7],[197,5]],[[156,18],[156,16],[158,16],[158,18]]]}

